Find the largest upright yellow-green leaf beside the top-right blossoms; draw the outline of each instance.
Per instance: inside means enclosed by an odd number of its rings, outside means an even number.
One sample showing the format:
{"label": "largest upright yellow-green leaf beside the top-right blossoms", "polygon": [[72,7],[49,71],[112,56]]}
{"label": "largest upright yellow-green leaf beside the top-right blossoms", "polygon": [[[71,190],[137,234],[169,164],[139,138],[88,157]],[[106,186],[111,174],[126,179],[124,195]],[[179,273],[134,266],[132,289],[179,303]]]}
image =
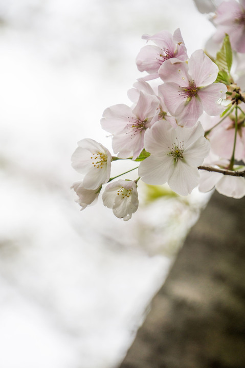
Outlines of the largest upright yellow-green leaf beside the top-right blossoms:
{"label": "largest upright yellow-green leaf beside the top-right blossoms", "polygon": [[216,59],[214,62],[216,65],[218,65],[219,73],[221,74],[219,79],[223,79],[224,81],[230,79],[230,71],[232,66],[232,49],[228,34],[226,34],[221,49],[216,54]]}

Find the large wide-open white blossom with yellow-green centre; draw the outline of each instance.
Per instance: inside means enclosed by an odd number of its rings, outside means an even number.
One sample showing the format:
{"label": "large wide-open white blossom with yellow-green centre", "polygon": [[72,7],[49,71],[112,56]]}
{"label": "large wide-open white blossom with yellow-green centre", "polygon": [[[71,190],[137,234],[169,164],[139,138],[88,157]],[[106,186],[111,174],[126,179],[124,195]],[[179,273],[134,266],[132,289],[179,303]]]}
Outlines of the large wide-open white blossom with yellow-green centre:
{"label": "large wide-open white blossom with yellow-green centre", "polygon": [[201,123],[193,128],[177,127],[158,121],[145,133],[145,149],[151,155],[140,163],[139,176],[148,184],[169,187],[188,195],[199,181],[197,167],[209,153]]}

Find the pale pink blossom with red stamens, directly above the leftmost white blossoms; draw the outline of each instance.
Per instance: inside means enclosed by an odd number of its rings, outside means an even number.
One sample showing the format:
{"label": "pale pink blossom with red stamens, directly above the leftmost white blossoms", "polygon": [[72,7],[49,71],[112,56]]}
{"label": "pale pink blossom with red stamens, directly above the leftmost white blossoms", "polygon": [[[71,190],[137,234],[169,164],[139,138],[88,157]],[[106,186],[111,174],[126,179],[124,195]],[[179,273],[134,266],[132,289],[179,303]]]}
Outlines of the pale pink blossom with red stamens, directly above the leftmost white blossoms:
{"label": "pale pink blossom with red stamens, directly above the leftmost white blossoms", "polygon": [[105,109],[101,126],[113,134],[113,150],[120,158],[136,159],[144,148],[144,134],[159,108],[156,96],[140,91],[134,108],[118,104]]}

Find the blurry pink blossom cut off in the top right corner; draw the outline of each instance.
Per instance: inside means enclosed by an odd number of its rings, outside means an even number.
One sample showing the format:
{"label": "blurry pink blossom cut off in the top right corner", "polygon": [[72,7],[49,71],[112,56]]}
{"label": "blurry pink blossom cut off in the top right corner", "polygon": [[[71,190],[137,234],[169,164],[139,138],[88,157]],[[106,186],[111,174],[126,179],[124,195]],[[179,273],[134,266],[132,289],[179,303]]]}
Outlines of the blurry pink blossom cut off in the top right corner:
{"label": "blurry pink blossom cut off in the top right corner", "polygon": [[213,20],[217,27],[213,40],[221,42],[227,33],[231,46],[240,53],[245,52],[245,0],[222,2]]}

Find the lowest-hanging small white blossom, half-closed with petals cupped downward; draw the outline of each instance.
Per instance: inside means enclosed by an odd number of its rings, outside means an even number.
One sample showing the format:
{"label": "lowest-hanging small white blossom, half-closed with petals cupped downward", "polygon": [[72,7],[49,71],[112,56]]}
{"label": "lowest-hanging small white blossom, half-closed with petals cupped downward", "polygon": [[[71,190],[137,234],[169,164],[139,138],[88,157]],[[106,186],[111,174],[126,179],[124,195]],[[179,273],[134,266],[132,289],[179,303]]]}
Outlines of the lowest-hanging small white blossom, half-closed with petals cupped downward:
{"label": "lowest-hanging small white blossom, half-closed with petals cupped downward", "polygon": [[117,180],[109,183],[102,199],[106,207],[113,209],[115,216],[127,221],[139,206],[137,185],[132,180]]}

